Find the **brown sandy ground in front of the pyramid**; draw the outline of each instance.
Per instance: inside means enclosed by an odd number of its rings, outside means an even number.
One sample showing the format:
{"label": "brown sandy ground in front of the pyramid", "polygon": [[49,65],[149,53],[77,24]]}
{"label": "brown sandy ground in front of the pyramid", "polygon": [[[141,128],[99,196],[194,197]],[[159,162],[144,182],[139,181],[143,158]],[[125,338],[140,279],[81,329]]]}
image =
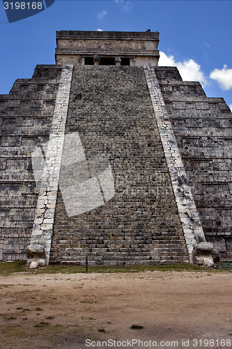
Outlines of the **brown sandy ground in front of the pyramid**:
{"label": "brown sandy ground in front of the pyramid", "polygon": [[13,274],[0,284],[0,348],[232,348],[228,272]]}

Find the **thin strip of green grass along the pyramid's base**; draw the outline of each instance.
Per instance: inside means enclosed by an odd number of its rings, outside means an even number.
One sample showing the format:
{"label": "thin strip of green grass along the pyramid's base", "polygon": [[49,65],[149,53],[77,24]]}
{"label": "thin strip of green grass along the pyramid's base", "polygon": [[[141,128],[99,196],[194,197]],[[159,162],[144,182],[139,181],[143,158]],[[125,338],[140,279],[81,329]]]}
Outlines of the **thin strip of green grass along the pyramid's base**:
{"label": "thin strip of green grass along the pyramid's base", "polygon": [[[208,269],[196,265],[175,264],[175,265],[133,265],[133,266],[117,266],[117,267],[88,267],[88,273],[136,273],[136,272],[220,272],[219,269]],[[28,269],[26,262],[0,262],[0,275],[10,275],[13,273],[26,272],[27,274],[77,274],[85,273],[85,266],[64,266],[64,265],[48,265],[47,267],[40,267],[38,269]]]}

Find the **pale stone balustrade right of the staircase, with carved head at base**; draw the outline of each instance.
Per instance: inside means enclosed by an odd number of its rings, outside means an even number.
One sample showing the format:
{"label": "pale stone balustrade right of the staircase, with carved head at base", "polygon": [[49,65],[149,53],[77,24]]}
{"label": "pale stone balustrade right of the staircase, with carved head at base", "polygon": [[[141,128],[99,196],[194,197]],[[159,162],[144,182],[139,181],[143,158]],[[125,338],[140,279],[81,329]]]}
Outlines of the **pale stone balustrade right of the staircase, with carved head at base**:
{"label": "pale stone balustrade right of the staircase, with carved head at base", "polygon": [[166,157],[173,193],[183,226],[183,233],[192,264],[213,267],[212,244],[206,242],[199,214],[196,210],[190,184],[176,142],[169,114],[167,112],[160,85],[155,73],[155,66],[144,66],[144,73],[150,93],[155,121],[160,133],[164,154]]}

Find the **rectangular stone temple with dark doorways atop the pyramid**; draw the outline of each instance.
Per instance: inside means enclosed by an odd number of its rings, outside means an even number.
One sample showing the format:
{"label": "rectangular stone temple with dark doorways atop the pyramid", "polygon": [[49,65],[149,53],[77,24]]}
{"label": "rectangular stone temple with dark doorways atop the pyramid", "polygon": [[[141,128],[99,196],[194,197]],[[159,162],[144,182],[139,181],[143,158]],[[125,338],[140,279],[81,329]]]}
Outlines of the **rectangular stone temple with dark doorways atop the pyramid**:
{"label": "rectangular stone temple with dark doorways atop the pyramid", "polygon": [[157,66],[159,33],[56,31],[56,64]]}

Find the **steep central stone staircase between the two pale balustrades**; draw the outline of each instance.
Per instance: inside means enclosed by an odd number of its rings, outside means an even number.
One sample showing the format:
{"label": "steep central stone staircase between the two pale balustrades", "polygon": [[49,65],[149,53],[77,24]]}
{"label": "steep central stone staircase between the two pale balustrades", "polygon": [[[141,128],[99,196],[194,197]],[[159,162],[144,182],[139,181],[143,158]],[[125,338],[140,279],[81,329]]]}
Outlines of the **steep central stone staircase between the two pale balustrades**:
{"label": "steep central stone staircase between the two pale balustrades", "polygon": [[[115,195],[69,217],[59,191],[50,261],[84,264],[88,255],[96,265],[188,262],[143,68],[76,66],[66,124],[66,134],[74,133],[88,166],[94,158],[110,163]],[[75,183],[77,164],[71,170]],[[63,172],[70,186],[71,170]]]}

